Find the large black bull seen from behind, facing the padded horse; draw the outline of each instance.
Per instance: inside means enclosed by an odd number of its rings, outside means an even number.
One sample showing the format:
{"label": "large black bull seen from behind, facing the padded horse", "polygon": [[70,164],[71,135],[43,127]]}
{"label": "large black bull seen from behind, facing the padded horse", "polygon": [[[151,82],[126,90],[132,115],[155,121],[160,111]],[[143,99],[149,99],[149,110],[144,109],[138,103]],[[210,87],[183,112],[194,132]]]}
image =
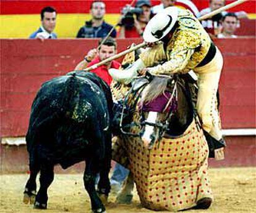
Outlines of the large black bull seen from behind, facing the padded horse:
{"label": "large black bull seen from behind, facing the padded horse", "polygon": [[[54,164],[66,169],[85,161],[83,180],[92,210],[105,211],[95,190],[95,175],[100,172],[98,193],[107,196],[112,108],[109,87],[92,73],[68,73],[41,86],[33,101],[26,135],[30,178],[25,186],[25,203],[35,199],[34,207],[46,209]],[[36,193],[39,171],[40,189]]]}

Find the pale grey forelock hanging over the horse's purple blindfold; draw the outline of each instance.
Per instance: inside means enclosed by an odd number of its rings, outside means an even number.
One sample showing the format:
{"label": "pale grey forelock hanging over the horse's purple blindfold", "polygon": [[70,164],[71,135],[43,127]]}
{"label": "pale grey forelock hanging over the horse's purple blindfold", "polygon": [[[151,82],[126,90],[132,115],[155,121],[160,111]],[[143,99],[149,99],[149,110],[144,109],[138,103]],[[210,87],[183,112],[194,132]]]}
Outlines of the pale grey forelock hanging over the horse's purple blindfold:
{"label": "pale grey forelock hanging over the horse's purple blindfold", "polygon": [[164,94],[168,86],[168,78],[155,77],[142,92],[141,103],[149,103],[161,94]]}

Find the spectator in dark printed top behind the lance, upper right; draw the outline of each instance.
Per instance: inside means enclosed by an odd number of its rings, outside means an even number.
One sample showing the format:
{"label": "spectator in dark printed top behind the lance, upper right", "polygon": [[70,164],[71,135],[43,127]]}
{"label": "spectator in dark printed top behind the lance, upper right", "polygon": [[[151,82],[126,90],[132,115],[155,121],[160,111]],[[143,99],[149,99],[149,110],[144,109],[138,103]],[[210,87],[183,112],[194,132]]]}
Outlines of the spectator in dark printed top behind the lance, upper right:
{"label": "spectator in dark printed top behind the lance, upper right", "polygon": [[[205,8],[200,11],[198,17],[202,15],[209,14],[211,11],[219,9],[220,7],[225,6],[225,0],[210,0],[210,7]],[[203,28],[210,34],[211,38],[215,38],[221,30],[221,20],[228,12],[223,11],[220,14],[216,14],[213,17],[203,20]],[[247,14],[244,11],[236,12],[237,18],[247,18]]]}

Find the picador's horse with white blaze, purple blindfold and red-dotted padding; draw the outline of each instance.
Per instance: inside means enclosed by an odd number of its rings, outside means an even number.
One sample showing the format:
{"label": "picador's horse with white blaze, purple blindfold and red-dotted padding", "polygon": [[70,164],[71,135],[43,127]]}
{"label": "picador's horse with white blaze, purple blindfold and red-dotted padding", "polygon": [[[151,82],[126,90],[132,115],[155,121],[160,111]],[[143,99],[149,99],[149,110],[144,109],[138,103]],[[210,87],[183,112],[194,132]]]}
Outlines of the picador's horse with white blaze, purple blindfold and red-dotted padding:
{"label": "picador's horse with white blaze, purple blindfold and red-dotted padding", "polygon": [[[134,81],[122,99],[122,109],[132,109],[127,115],[121,113],[113,158],[129,168],[131,175],[117,203],[131,201],[133,177],[140,201],[148,209],[210,207],[209,150],[192,101],[196,100],[194,82],[187,79],[183,74],[149,75]],[[111,87],[113,94],[119,93],[116,88],[122,86]],[[131,123],[122,123],[124,116],[130,116]]]}

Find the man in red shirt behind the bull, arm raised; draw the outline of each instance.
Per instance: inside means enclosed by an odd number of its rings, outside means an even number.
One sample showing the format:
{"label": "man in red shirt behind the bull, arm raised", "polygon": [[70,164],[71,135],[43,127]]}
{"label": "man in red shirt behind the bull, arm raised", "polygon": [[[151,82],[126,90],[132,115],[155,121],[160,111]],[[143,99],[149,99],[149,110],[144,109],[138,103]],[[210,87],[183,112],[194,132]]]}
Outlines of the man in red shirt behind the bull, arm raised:
{"label": "man in red shirt behind the bull, arm raised", "polygon": [[[103,39],[100,40],[99,45]],[[90,50],[87,55],[85,56],[84,60],[80,62],[76,67],[75,70],[84,70],[88,66],[95,65],[98,62],[101,62],[102,60],[105,60],[106,58],[109,58],[116,54],[116,41],[109,37],[106,39],[106,41],[101,45],[100,49],[92,49]],[[118,69],[121,66],[119,62],[116,62],[115,60],[108,62],[106,65],[101,65],[98,68],[95,68],[94,70],[91,70],[92,73],[95,73],[97,76],[99,76],[103,81],[105,81],[108,86],[111,84],[112,77],[108,73],[109,68],[116,68]]]}

